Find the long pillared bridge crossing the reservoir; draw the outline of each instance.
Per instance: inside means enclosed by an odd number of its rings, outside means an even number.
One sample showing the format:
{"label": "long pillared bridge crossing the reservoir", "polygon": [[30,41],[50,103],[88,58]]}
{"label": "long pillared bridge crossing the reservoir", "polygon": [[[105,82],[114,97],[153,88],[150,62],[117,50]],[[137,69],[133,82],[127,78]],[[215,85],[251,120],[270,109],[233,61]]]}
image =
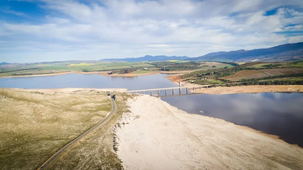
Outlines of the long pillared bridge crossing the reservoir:
{"label": "long pillared bridge crossing the reservoir", "polygon": [[[197,86],[186,86],[186,87],[169,87],[169,88],[158,88],[158,89],[144,89],[144,90],[130,90],[130,91],[125,91],[125,93],[143,93],[145,94],[145,92],[150,92],[150,96],[158,96],[158,97],[161,97],[160,96],[160,91],[161,90],[165,90],[165,95],[163,95],[162,97],[164,96],[168,96],[168,90],[172,90],[172,95],[169,95],[169,96],[173,96],[173,95],[181,95],[181,89],[185,89],[186,90],[186,95],[188,94],[189,90],[194,90],[194,89],[201,89],[201,88],[208,88],[208,86],[210,85],[197,85]],[[179,94],[175,94],[175,90],[178,90],[179,91]],[[153,95],[153,91],[158,91],[158,95],[157,94],[154,94]]]}

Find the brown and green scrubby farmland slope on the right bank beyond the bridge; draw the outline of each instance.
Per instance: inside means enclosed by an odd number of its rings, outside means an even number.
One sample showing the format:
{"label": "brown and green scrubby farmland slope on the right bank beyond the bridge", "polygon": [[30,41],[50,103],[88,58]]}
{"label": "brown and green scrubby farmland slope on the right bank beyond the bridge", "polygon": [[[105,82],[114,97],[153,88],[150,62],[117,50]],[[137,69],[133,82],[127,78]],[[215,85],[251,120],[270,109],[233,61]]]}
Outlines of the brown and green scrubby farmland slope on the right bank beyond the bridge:
{"label": "brown and green scrubby farmland slope on the right bank beyond the bridge", "polygon": [[[251,62],[232,68],[215,68],[184,74],[186,82],[201,85],[301,85],[303,62]],[[292,79],[289,79],[292,78]],[[287,80],[286,80],[287,79]]]}

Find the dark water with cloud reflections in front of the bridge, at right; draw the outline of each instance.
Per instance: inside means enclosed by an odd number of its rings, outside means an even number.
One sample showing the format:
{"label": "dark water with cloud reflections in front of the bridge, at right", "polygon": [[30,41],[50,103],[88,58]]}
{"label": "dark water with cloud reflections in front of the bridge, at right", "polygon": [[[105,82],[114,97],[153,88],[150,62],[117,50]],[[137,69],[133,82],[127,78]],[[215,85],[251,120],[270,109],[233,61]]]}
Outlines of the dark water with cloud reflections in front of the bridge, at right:
{"label": "dark water with cloud reflections in front of the bridge, at right", "polygon": [[195,94],[162,100],[186,112],[247,126],[303,147],[303,93]]}

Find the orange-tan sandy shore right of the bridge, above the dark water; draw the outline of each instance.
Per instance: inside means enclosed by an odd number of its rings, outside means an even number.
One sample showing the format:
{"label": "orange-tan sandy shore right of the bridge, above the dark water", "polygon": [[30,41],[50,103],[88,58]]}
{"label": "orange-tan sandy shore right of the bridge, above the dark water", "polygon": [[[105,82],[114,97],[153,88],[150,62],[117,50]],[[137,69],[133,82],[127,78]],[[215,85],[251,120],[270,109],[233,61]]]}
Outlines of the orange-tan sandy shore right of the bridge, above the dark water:
{"label": "orange-tan sandy shore right of the bridge, above the dark water", "polygon": [[234,87],[212,87],[190,90],[194,93],[233,94],[233,93],[262,93],[262,92],[303,92],[303,85],[254,85]]}

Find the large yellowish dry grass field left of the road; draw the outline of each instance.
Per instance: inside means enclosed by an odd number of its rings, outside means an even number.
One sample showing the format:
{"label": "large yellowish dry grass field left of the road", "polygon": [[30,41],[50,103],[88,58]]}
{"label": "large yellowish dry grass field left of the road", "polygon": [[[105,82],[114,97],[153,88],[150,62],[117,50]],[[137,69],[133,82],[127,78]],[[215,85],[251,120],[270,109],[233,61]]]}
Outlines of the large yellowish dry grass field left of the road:
{"label": "large yellowish dry grass field left of the road", "polygon": [[0,89],[0,169],[36,169],[112,108],[107,94]]}

